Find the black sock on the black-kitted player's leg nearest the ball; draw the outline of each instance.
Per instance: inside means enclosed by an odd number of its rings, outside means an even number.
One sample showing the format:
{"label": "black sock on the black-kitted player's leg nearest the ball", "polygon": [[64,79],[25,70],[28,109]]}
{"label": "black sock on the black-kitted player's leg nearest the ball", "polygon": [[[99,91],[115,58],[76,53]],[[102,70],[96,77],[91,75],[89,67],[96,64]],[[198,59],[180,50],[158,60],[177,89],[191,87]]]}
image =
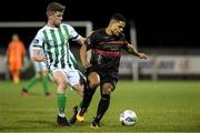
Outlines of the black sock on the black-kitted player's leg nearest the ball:
{"label": "black sock on the black-kitted player's leg nearest the ball", "polygon": [[103,114],[107,112],[109,104],[110,104],[110,95],[109,94],[102,94],[101,100],[100,100],[99,105],[98,105],[96,122],[98,122],[98,123],[100,122]]}

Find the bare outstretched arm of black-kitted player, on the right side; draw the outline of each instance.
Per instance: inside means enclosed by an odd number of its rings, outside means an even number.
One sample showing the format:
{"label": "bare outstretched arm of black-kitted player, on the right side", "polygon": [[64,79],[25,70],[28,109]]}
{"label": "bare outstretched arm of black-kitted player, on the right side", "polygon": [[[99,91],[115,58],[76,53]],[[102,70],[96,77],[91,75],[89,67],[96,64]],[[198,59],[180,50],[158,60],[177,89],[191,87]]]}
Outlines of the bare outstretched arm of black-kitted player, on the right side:
{"label": "bare outstretched arm of black-kitted player, on the right side", "polygon": [[140,58],[140,59],[147,59],[147,58],[148,58],[144,53],[138,52],[137,49],[136,49],[132,44],[130,44],[130,43],[127,44],[127,47],[124,48],[124,50],[126,50],[128,53],[134,54],[134,55],[137,55],[137,57]]}

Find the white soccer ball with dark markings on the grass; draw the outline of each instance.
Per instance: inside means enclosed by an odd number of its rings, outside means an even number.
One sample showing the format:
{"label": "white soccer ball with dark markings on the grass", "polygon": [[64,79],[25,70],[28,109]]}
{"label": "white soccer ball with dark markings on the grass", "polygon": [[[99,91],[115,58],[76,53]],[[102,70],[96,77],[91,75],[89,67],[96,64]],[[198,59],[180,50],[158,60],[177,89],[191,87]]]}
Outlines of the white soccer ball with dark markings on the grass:
{"label": "white soccer ball with dark markings on the grass", "polygon": [[120,114],[122,125],[134,125],[137,123],[137,114],[132,110],[126,110]]}

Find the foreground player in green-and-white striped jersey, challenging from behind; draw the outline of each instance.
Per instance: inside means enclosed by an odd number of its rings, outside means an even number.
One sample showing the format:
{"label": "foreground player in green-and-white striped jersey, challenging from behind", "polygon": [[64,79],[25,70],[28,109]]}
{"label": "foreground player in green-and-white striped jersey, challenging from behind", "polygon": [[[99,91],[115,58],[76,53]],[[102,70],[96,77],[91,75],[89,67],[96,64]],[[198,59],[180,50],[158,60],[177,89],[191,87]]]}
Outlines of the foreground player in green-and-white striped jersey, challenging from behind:
{"label": "foreground player in green-and-white striped jersey, challenging from behind", "polygon": [[[76,66],[76,59],[69,48],[69,39],[79,44],[84,43],[84,38],[69,24],[62,23],[62,16],[66,7],[50,2],[47,7],[47,24],[41,28],[33,40],[33,61],[46,62],[52,81],[57,84],[58,116],[57,123],[63,126],[70,126],[66,117],[66,90],[71,85],[81,96],[83,86],[80,84],[79,71]],[[41,57],[40,51],[44,51]]]}

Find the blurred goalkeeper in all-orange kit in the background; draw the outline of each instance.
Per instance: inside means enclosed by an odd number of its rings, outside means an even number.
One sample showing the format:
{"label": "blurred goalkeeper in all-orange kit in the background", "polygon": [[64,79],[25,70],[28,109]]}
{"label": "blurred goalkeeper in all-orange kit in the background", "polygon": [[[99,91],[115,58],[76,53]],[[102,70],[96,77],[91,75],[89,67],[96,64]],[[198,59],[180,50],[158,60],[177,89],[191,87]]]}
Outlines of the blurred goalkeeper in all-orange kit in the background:
{"label": "blurred goalkeeper in all-orange kit in the background", "polygon": [[8,68],[14,83],[20,82],[20,71],[23,66],[23,58],[26,54],[24,43],[20,40],[19,35],[14,33],[7,49]]}

